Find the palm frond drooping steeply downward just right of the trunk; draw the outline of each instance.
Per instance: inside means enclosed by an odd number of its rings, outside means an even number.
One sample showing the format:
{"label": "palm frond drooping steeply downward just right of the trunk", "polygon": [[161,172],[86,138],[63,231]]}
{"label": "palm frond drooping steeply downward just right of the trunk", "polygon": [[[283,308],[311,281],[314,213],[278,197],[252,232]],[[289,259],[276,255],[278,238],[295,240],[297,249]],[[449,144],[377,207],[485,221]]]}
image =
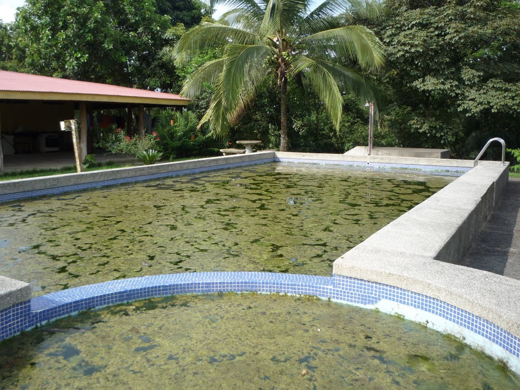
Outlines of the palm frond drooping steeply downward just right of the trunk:
{"label": "palm frond drooping steeply downward just right of the trunk", "polygon": [[328,111],[336,130],[340,128],[341,113],[343,111],[343,97],[333,75],[317,61],[298,56],[291,61],[291,73],[305,72],[311,87],[320,97]]}

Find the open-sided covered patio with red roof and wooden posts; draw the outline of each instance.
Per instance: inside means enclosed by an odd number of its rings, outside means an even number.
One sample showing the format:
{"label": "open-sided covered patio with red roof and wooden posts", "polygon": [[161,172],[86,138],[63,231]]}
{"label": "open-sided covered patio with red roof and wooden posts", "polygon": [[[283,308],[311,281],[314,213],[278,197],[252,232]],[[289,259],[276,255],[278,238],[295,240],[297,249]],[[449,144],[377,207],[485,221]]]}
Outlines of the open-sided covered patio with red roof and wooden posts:
{"label": "open-sided covered patio with red roof and wooden posts", "polygon": [[[176,94],[0,71],[0,172],[74,165],[72,136],[61,132],[60,121],[79,118],[83,160],[94,153],[95,111],[123,111],[127,134],[142,136],[145,110],[188,103]],[[121,160],[99,153],[96,158]]]}

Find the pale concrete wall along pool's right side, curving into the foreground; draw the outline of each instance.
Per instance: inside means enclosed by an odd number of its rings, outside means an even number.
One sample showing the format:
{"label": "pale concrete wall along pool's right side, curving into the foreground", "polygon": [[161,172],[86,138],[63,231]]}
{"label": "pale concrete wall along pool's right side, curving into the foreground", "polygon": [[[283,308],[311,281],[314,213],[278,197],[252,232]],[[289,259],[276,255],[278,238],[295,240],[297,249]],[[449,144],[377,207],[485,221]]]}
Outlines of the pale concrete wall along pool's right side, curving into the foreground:
{"label": "pale concrete wall along pool's right side, curving into the foreground", "polygon": [[333,274],[437,298],[520,336],[520,280],[457,265],[504,191],[484,161],[334,262]]}

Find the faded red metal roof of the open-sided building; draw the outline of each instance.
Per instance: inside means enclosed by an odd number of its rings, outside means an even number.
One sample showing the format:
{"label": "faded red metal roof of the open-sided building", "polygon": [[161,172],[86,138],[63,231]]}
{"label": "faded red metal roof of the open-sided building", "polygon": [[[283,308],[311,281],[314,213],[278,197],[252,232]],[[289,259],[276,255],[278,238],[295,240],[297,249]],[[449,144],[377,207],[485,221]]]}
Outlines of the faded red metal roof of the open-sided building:
{"label": "faded red metal roof of the open-sided building", "polygon": [[189,101],[189,99],[180,97],[177,94],[8,71],[0,71],[0,91],[180,99],[186,100],[186,103]]}

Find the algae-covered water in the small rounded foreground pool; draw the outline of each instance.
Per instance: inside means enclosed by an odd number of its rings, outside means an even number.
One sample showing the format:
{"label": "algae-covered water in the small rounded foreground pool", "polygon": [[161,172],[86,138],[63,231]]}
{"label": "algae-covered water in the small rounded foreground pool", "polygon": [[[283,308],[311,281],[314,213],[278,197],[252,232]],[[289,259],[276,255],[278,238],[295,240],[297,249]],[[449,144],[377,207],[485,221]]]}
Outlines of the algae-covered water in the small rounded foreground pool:
{"label": "algae-covered water in the small rounded foreground pool", "polygon": [[0,343],[4,389],[508,390],[495,361],[420,324],[317,298],[154,298]]}

